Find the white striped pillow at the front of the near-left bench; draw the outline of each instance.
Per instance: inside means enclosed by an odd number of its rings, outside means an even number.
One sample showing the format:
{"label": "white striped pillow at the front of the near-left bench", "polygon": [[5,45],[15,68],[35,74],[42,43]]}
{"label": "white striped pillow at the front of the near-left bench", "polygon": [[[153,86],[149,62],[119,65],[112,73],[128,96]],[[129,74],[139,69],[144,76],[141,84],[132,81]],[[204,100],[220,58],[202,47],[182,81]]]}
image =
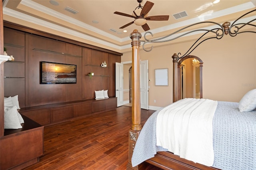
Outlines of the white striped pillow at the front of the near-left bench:
{"label": "white striped pillow at the front of the near-left bench", "polygon": [[17,107],[5,107],[4,108],[4,128],[6,129],[18,129],[22,128],[20,120],[17,114]]}

